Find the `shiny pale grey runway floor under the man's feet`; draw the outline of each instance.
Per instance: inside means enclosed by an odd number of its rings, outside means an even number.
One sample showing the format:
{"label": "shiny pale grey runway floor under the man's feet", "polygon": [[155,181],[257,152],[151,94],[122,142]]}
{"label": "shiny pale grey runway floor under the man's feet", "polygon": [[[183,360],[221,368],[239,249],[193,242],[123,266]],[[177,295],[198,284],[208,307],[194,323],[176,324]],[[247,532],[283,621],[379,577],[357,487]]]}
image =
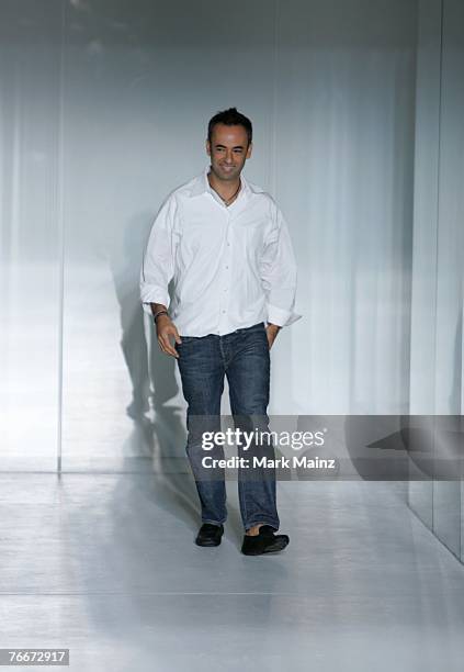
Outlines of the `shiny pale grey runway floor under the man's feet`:
{"label": "shiny pale grey runway floor under the man's feet", "polygon": [[0,647],[66,647],[82,672],[463,669],[464,567],[404,483],[280,483],[291,544],[259,558],[239,553],[231,482],[214,549],[193,544],[186,475],[0,485]]}

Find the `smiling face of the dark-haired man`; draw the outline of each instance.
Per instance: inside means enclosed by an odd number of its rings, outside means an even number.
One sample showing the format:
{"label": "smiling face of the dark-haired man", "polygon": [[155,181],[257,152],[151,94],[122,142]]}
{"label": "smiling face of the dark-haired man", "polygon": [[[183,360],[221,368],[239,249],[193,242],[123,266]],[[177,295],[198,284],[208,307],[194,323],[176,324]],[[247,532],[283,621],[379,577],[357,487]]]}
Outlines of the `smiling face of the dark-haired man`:
{"label": "smiling face of the dark-haired man", "polygon": [[251,156],[252,143],[244,126],[215,124],[211,143],[206,141],[206,153],[211,168],[218,180],[231,182],[239,177],[247,158]]}

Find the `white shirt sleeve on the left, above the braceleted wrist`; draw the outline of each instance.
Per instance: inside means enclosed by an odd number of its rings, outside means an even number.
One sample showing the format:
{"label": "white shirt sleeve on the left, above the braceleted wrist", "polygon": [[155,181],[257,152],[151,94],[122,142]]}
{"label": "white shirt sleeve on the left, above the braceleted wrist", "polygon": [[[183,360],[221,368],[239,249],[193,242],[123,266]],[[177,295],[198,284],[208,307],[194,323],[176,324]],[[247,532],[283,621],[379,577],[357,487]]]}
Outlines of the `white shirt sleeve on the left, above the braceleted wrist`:
{"label": "white shirt sleeve on the left, above the braceleted wrist", "polygon": [[168,285],[174,273],[177,203],[169,195],[152,223],[140,269],[140,300],[151,314],[150,303],[169,306]]}

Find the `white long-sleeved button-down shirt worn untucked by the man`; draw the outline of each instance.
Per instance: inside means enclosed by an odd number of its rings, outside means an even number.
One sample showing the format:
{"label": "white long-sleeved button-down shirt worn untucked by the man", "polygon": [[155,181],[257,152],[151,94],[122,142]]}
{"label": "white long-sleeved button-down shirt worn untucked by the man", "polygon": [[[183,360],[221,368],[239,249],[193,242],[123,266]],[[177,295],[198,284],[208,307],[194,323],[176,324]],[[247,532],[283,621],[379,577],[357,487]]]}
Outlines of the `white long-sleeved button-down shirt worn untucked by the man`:
{"label": "white long-sleeved button-down shirt worn untucked by the man", "polygon": [[292,324],[301,317],[296,265],[281,211],[242,175],[238,197],[225,205],[208,171],[172,191],[155,219],[140,270],[144,310],[169,306],[181,336]]}

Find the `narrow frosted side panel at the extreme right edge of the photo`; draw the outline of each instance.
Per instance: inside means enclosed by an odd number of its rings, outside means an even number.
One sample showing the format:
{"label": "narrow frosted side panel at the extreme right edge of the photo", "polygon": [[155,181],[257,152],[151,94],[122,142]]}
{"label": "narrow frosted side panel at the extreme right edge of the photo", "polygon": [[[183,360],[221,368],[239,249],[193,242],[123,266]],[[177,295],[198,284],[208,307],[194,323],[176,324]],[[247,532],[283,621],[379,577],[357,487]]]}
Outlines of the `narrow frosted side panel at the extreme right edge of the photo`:
{"label": "narrow frosted side panel at the extreme right edge of the photo", "polygon": [[[464,5],[445,0],[440,124],[440,195],[437,273],[435,412],[463,414],[463,269],[464,269]],[[462,419],[450,418],[438,451],[449,452],[456,436],[464,451]],[[461,477],[463,474],[461,473]],[[461,555],[462,482],[434,484],[433,530]],[[463,556],[461,556],[463,558]],[[464,558],[463,558],[464,559]]]}

